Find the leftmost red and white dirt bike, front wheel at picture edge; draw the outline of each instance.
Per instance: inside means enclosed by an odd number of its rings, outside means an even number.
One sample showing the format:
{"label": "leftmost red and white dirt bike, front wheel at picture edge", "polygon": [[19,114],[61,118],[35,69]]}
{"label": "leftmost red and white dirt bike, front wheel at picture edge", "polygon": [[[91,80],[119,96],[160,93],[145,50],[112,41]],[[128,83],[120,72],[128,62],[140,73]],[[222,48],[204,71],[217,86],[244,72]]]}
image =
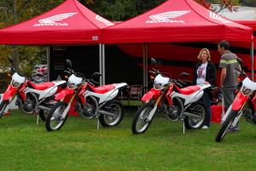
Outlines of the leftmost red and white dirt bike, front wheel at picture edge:
{"label": "leftmost red and white dirt bike, front wheel at picture edge", "polygon": [[14,74],[1,99],[0,118],[9,111],[16,97],[15,105],[18,105],[21,111],[26,113],[39,111],[39,116],[45,121],[44,111],[50,110],[53,105],[52,96],[66,87],[66,81],[34,84],[15,70],[12,59],[9,58],[9,61],[12,64],[11,72]]}

